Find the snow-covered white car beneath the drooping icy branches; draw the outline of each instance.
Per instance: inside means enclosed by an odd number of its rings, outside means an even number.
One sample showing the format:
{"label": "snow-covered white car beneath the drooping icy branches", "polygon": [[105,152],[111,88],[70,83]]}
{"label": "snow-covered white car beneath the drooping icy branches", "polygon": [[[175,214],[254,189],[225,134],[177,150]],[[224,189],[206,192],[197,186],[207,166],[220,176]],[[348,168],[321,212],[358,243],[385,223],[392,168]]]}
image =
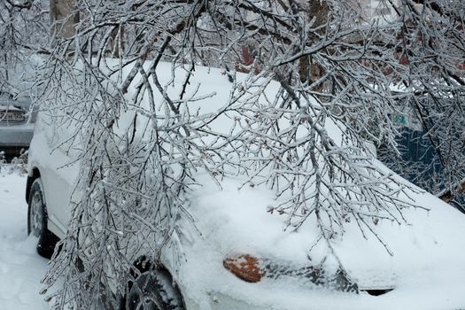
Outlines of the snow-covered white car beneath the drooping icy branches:
{"label": "snow-covered white car beneath the drooping icy branches", "polygon": [[[159,70],[159,76],[169,75],[172,67],[166,64]],[[219,105],[229,96],[231,84],[221,70],[198,66],[190,78],[191,88],[201,83],[204,89],[215,90],[214,96],[198,100],[205,106]],[[58,239],[66,236],[71,205],[82,194],[75,190],[80,167],[72,158],[73,149],[57,147],[62,145],[60,135],[66,136],[66,131],[74,128],[50,130],[45,117],[39,115],[29,150],[27,228],[39,238],[38,252],[50,257]],[[376,165],[388,171],[380,162]],[[152,301],[151,309],[465,306],[465,238],[460,236],[465,219],[450,205],[413,185],[410,198],[430,211],[415,211],[415,207],[404,210],[406,225],[376,222],[382,242],[376,236],[362,236],[355,222],[347,222],[344,238],[335,239],[333,245],[345,273],[314,266],[314,261],[320,261],[318,255],[328,256],[323,248],[315,248],[309,255],[318,229],[309,222],[298,231],[283,230],[282,216],[267,212],[267,206],[275,203],[272,190],[252,186],[238,190],[244,182],[240,176],[225,177],[221,188],[207,174],[199,173],[196,181],[202,186],[190,195],[195,227],[185,220],[178,224],[183,231],[191,230],[179,236],[184,252],[181,264],[174,264],[169,247],[157,261],[144,255],[143,249],[128,253],[128,260],[141,272],[137,282],[143,296]],[[136,305],[136,293],[129,291],[126,300],[132,302],[122,306]]]}

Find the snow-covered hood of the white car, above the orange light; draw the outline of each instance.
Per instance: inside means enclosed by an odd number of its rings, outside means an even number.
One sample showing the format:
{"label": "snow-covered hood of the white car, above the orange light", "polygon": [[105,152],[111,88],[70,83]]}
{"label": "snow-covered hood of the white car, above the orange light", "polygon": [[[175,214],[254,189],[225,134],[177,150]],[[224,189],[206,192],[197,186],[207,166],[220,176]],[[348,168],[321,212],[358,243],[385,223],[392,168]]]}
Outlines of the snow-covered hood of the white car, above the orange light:
{"label": "snow-covered hood of the white car, above the orange light", "polygon": [[[247,253],[302,267],[317,265],[331,256],[323,243],[310,251],[319,233],[314,221],[309,219],[295,231],[286,229],[286,215],[267,212],[267,206],[276,203],[273,191],[242,186],[244,180],[240,178],[225,178],[221,188],[206,174],[198,175],[198,182],[202,186],[192,194],[190,213],[199,237],[218,253],[218,260]],[[407,221],[400,225],[379,221],[375,226],[377,236],[369,232],[363,236],[358,226],[349,222],[344,235],[333,240],[334,252],[360,289],[415,283],[419,279],[415,280],[413,275],[418,274],[438,280],[438,267],[445,265],[446,269],[452,267],[448,275],[457,276],[453,275],[453,268],[461,267],[461,261],[465,260],[461,250],[465,248],[461,237],[465,236],[465,216],[428,193],[411,195],[418,205],[430,211],[405,210]],[[335,271],[337,265],[336,260],[330,259],[324,264],[329,271],[331,268]],[[461,271],[465,275],[463,268]],[[447,282],[447,276],[442,280]]]}

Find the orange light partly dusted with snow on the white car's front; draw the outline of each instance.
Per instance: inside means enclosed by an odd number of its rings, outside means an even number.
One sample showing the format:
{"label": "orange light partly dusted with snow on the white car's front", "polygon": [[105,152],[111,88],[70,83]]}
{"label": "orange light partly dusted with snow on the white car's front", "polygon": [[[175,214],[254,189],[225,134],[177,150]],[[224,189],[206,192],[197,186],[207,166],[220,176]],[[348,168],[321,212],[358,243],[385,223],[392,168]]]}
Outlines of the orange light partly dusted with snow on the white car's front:
{"label": "orange light partly dusted with snow on the white car's front", "polygon": [[223,260],[223,266],[239,279],[250,283],[260,282],[265,275],[260,260],[249,254],[230,255]]}

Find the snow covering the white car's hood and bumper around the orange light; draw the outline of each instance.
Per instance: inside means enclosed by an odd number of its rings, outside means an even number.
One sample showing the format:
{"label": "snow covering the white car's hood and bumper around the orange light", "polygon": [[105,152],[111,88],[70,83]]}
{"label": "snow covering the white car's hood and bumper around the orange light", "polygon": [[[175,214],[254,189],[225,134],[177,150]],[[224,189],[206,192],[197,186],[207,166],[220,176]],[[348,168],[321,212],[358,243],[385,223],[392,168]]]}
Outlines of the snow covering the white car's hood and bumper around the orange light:
{"label": "snow covering the white car's hood and bumper around the orange light", "polygon": [[[327,291],[286,277],[265,278],[260,283],[237,279],[222,267],[222,261],[234,253],[296,267],[318,262],[318,251],[308,252],[318,231],[312,224],[297,232],[284,231],[282,217],[267,213],[267,205],[275,202],[270,190],[239,190],[240,178],[225,178],[221,189],[207,175],[198,179],[204,186],[192,194],[190,210],[202,241],[185,241],[186,264],[179,274],[180,281],[197,283],[186,289],[194,295],[208,296],[214,288],[211,294],[281,310],[465,307],[465,216],[428,193],[412,196],[430,212],[412,209],[405,212],[408,224],[380,221],[376,225],[392,256],[374,236],[364,239],[355,223],[348,223],[345,235],[335,240],[337,255],[360,289],[394,289],[374,297],[365,292]],[[320,254],[328,252],[321,249]]]}

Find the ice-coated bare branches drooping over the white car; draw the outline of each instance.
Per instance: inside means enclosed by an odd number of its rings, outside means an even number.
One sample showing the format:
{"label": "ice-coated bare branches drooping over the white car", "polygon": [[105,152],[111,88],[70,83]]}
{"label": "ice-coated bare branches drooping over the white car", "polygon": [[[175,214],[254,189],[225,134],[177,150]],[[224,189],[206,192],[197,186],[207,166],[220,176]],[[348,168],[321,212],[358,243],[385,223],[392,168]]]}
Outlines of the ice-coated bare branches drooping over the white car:
{"label": "ice-coated bare branches drooping over the white car", "polygon": [[[377,221],[406,221],[405,185],[367,147],[395,147],[390,85],[406,68],[379,45],[389,27],[362,22],[350,1],[327,4],[317,22],[294,1],[76,1],[76,34],[41,77],[83,192],[45,279],[64,280],[55,306],[117,306],[141,252],[181,261],[199,172],[272,188],[285,228],[312,222],[330,249],[349,221],[383,244]],[[220,67],[227,90],[202,88],[200,66]]]}

